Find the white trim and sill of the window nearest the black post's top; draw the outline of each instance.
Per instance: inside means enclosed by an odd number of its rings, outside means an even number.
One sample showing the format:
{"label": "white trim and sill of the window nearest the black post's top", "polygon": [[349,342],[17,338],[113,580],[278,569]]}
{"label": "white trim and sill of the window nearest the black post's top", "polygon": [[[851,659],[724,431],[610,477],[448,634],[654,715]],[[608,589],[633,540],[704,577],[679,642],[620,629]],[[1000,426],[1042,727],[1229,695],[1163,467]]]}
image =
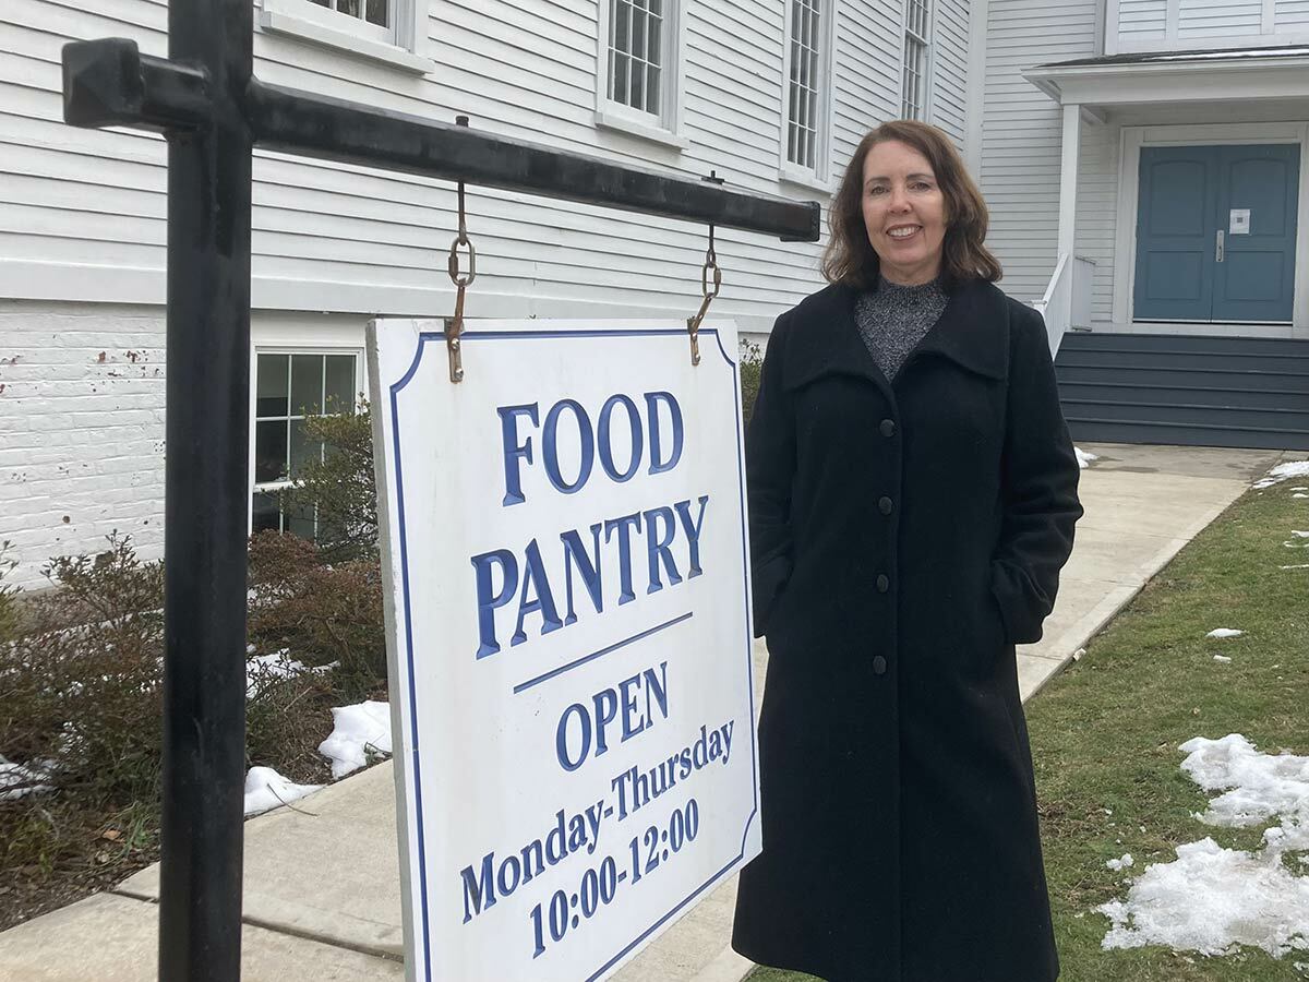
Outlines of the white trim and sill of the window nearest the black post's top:
{"label": "white trim and sill of the window nearest the black post's top", "polygon": [[[270,34],[297,38],[336,51],[398,68],[412,75],[436,71],[436,62],[427,58],[427,20],[429,0],[391,0],[393,26],[377,27],[347,14],[326,10],[310,0],[262,0],[257,25]],[[390,39],[381,39],[389,34]]]}

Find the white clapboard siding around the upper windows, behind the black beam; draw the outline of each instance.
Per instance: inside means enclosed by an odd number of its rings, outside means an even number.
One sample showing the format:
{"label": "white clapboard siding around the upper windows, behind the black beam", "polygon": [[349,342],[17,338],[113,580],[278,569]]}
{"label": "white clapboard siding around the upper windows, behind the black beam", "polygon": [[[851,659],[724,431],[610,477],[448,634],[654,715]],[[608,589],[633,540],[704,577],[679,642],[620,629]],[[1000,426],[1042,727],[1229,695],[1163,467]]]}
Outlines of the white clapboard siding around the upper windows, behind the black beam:
{"label": "white clapboard siding around the upper windows, behind the black beam", "polygon": [[[594,124],[598,3],[605,1],[431,0],[424,50],[439,68],[429,76],[263,31],[255,35],[255,71],[274,84],[433,119],[462,113],[474,127],[511,137],[687,177],[713,169],[736,187],[826,203],[817,191],[779,183],[784,4],[683,3],[682,134],[690,145],[678,151]],[[941,4],[936,105],[958,137],[966,0]],[[0,4],[0,276],[5,263],[21,261],[26,272],[46,275],[5,279],[8,295],[24,296],[37,284],[34,299],[85,300],[92,297],[60,292],[73,279],[69,264],[123,270],[123,284],[140,285],[124,285],[115,299],[158,302],[164,143],[64,126],[59,59],[67,41],[109,35],[164,55],[168,8],[164,0],[92,7]],[[839,10],[830,140],[836,177],[867,128],[897,111],[901,43],[898,3],[843,3]],[[257,295],[259,282],[270,280],[292,309],[441,313],[450,304],[449,185],[263,152],[254,175]],[[467,212],[479,253],[469,300],[474,316],[479,297],[491,296],[500,314],[535,312],[551,299],[594,299],[634,314],[694,309],[704,228],[476,187],[469,190]],[[720,230],[717,253],[725,279],[715,309],[751,329],[766,329],[821,285],[818,245]]]}

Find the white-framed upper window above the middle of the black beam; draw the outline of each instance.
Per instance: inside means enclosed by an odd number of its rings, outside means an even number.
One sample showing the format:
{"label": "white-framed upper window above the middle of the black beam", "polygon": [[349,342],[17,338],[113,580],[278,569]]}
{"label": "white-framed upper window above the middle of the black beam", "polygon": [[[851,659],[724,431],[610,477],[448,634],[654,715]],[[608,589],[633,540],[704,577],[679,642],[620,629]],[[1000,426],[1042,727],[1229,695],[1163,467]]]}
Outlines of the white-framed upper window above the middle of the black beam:
{"label": "white-framed upper window above the middle of the black beam", "polygon": [[596,123],[682,148],[678,0],[601,0]]}

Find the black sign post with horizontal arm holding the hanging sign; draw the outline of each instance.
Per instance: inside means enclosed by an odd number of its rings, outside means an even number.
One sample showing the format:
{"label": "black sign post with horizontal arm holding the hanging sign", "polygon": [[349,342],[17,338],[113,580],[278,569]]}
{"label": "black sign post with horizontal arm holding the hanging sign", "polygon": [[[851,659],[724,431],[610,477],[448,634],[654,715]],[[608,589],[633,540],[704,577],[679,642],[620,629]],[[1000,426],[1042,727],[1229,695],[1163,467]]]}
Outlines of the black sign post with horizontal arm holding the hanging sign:
{"label": "black sign post with horizontal arm holding the hanging sign", "polygon": [[[164,820],[158,977],[241,974],[254,147],[787,241],[817,203],[730,191],[260,82],[250,0],[171,0],[169,58],[64,47],[64,119],[162,132],[168,178]],[[433,312],[435,313],[435,312]]]}

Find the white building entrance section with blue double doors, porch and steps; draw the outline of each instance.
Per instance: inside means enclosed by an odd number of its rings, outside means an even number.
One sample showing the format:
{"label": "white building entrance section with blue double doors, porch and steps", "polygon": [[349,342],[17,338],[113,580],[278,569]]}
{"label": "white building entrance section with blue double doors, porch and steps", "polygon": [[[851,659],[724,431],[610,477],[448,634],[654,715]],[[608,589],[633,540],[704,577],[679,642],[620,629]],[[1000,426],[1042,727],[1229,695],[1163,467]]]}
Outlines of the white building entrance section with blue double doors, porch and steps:
{"label": "white building entrance section with blue double doors, porch and steps", "polygon": [[1075,437],[1309,449],[1309,0],[973,13],[990,242]]}

